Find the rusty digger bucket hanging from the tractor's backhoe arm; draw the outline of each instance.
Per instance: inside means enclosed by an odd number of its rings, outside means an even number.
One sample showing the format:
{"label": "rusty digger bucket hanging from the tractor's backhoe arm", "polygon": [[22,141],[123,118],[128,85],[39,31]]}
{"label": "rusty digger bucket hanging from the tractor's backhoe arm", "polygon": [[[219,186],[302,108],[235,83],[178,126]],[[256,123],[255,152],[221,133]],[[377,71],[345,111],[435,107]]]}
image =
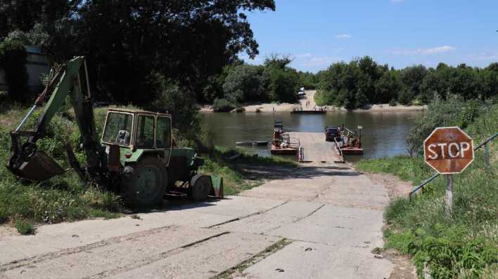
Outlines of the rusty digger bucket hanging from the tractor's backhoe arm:
{"label": "rusty digger bucket hanging from the tractor's backhoe arm", "polygon": [[63,172],[63,168],[60,168],[53,158],[47,156],[44,151],[36,151],[29,160],[20,164],[16,174],[26,179],[41,181]]}

